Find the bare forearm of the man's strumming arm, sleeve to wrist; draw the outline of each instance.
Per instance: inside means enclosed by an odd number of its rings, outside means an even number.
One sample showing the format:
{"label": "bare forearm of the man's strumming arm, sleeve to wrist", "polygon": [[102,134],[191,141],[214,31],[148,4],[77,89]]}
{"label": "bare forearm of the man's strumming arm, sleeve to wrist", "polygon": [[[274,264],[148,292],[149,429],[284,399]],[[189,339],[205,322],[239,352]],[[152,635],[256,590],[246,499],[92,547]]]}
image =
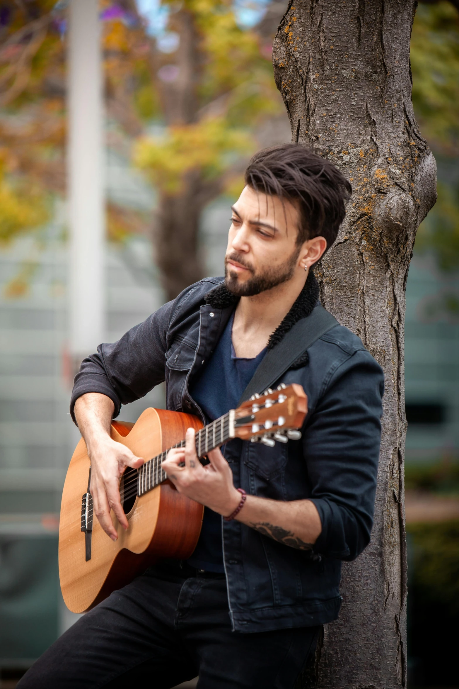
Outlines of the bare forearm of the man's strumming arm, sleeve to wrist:
{"label": "bare forearm of the man's strumming arm, sleeve to wrist", "polygon": [[89,455],[94,445],[110,435],[114,409],[115,405],[111,399],[98,392],[88,392],[76,400],[75,418]]}

